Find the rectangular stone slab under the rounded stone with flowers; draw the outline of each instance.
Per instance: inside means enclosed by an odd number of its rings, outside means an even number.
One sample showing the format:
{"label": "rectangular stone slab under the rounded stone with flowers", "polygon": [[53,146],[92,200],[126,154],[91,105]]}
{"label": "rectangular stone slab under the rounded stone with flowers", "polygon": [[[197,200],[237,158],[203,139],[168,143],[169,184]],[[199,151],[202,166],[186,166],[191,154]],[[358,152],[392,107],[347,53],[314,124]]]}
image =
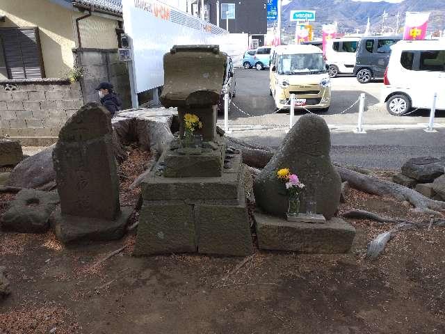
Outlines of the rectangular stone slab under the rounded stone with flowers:
{"label": "rectangular stone slab under the rounded stone with flowers", "polygon": [[320,254],[346,253],[355,237],[355,228],[337,217],[324,224],[284,221],[259,213],[255,213],[254,217],[261,249]]}

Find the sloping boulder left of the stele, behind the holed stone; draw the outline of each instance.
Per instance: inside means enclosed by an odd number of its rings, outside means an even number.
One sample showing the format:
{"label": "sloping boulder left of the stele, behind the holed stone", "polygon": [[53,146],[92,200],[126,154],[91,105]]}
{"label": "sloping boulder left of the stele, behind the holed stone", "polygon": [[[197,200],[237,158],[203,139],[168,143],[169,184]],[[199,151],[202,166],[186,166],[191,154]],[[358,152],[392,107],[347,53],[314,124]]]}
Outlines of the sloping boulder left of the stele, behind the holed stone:
{"label": "sloping boulder left of the stele, behind the holed stone", "polygon": [[13,171],[6,185],[20,188],[51,190],[56,186],[56,172],[53,166],[54,145],[24,159]]}

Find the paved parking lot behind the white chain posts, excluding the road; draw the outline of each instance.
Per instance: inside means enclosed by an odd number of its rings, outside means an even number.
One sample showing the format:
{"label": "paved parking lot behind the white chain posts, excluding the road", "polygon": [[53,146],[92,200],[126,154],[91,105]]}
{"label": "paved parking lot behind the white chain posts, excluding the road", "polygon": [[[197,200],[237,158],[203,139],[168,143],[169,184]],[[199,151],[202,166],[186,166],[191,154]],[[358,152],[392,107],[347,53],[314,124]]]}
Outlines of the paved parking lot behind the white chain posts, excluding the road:
{"label": "paved parking lot behind the white chain posts, excluding the road", "polygon": [[[289,112],[275,112],[273,97],[269,95],[268,70],[257,71],[237,68],[236,97],[229,110],[229,125],[289,125]],[[379,104],[382,81],[373,81],[369,84],[359,84],[355,77],[337,77],[332,79],[332,102],[327,113],[321,113],[328,125],[356,125],[359,111],[358,103],[348,109],[361,93],[366,94],[364,125],[380,125],[407,128],[428,123],[429,110],[419,110],[409,116],[392,116],[385,105]],[[236,108],[238,106],[240,110]],[[296,118],[306,111],[296,109]],[[220,117],[222,121],[222,116]],[[445,127],[445,113],[437,112],[435,122],[439,127]]]}

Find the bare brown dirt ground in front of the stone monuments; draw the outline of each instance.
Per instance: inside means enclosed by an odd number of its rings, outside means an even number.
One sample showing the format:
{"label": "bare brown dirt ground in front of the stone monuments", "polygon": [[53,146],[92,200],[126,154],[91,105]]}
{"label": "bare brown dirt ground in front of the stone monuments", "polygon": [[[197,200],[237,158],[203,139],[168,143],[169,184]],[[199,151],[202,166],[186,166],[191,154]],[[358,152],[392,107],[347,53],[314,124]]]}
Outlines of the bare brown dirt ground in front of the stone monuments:
{"label": "bare brown dirt ground in front of the stone monuments", "polygon": [[[122,166],[122,202],[136,204],[139,193],[127,186],[143,161],[133,150]],[[0,211],[13,197],[1,196]],[[348,209],[426,218],[355,190],[340,211]],[[357,229],[350,253],[256,250],[238,271],[239,257],[133,257],[135,234],[68,248],[52,232],[0,232],[13,291],[0,301],[0,334],[445,333],[445,228],[398,234],[370,261],[366,245],[390,226],[349,221]]]}

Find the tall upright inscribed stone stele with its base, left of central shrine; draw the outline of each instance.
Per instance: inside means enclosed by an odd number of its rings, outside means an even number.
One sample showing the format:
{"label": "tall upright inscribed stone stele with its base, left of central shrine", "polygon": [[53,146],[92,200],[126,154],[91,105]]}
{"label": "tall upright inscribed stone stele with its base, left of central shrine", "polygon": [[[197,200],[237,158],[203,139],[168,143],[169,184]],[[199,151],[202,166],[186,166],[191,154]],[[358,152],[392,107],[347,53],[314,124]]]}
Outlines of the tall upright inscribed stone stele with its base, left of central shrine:
{"label": "tall upright inscribed stone stele with its base, left of central shrine", "polygon": [[64,242],[119,239],[131,214],[119,203],[110,113],[92,102],[60,129],[53,150],[60,208],[52,217]]}

